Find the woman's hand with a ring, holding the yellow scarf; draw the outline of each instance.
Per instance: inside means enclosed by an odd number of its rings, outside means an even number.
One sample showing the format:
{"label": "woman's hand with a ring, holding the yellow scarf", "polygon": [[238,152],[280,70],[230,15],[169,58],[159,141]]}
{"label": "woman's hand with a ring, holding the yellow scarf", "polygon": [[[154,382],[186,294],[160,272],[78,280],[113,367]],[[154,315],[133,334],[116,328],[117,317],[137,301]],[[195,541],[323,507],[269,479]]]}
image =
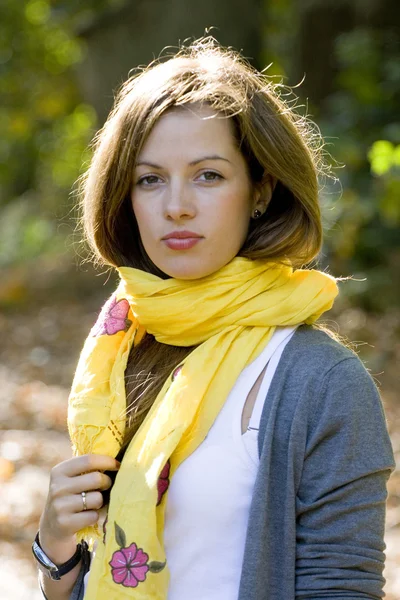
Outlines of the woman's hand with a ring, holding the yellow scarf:
{"label": "woman's hand with a ring, holding the yellow scarf", "polygon": [[[101,490],[109,489],[113,483],[103,471],[118,470],[119,466],[111,456],[84,454],[59,463],[51,470],[39,540],[56,564],[74,554],[76,532],[97,522],[98,510],[103,505]],[[83,510],[81,492],[86,492],[87,510]]]}

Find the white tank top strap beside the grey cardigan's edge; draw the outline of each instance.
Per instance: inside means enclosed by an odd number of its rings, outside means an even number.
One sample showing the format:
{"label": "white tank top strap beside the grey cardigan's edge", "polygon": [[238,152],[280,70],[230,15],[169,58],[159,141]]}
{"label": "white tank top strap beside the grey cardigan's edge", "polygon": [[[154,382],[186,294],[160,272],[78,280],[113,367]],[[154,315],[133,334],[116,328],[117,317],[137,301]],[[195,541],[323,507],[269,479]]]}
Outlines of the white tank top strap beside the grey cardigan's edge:
{"label": "white tank top strap beside the grey cardigan's edge", "polygon": [[276,367],[278,366],[286,344],[289,342],[296,329],[297,325],[294,327],[282,327],[276,329],[274,336],[267,346],[267,354],[265,355],[267,368],[265,370],[265,374],[254,403],[253,411],[251,413],[250,423],[247,428],[249,430],[259,429],[265,398],[267,397],[269,386],[271,385]]}

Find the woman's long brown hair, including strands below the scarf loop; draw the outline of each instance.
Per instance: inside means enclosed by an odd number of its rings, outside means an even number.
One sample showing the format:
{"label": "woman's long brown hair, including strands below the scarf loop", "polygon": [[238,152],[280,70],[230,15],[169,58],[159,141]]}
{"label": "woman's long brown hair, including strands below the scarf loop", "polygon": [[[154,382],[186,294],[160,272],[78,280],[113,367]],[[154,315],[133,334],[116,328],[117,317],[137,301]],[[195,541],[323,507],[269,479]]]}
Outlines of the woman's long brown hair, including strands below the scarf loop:
{"label": "woman's long brown hair, including strands below the scarf loop", "polygon": [[[96,261],[130,266],[162,278],[146,254],[130,192],[135,162],[157,120],[168,110],[208,104],[232,119],[254,185],[277,185],[266,212],[249,224],[239,256],[310,263],[322,242],[318,176],[323,141],[315,126],[284,101],[283,86],[253,69],[236,51],[202,38],[152,63],[121,87],[81,180],[83,224]],[[285,90],[287,91],[287,90]],[[122,456],[166,377],[192,348],[165,346],[146,335],[126,369],[127,428]]]}

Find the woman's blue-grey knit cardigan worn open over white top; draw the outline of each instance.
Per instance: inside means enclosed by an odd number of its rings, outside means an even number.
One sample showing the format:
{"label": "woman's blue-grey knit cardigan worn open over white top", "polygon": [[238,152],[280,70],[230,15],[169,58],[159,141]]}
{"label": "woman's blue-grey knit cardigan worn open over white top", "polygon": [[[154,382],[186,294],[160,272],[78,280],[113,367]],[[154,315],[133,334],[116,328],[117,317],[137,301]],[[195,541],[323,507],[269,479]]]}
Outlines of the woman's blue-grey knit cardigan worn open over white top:
{"label": "woman's blue-grey knit cardigan worn open over white top", "polygon": [[[271,382],[258,445],[238,600],[382,598],[395,463],[381,399],[359,358],[299,327]],[[82,600],[87,570],[88,561],[70,600]]]}

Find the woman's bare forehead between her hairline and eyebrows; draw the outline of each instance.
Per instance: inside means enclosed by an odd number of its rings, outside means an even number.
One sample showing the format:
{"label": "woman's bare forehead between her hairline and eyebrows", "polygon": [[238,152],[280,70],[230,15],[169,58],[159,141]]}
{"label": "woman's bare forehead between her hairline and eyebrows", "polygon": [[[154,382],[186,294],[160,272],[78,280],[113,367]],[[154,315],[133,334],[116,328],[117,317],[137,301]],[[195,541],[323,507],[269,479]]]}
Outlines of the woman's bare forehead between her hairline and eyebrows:
{"label": "woman's bare forehead between her hairline and eyebrows", "polygon": [[236,153],[233,131],[232,119],[209,106],[174,107],[155,123],[138,158],[165,152],[188,158],[202,151]]}

